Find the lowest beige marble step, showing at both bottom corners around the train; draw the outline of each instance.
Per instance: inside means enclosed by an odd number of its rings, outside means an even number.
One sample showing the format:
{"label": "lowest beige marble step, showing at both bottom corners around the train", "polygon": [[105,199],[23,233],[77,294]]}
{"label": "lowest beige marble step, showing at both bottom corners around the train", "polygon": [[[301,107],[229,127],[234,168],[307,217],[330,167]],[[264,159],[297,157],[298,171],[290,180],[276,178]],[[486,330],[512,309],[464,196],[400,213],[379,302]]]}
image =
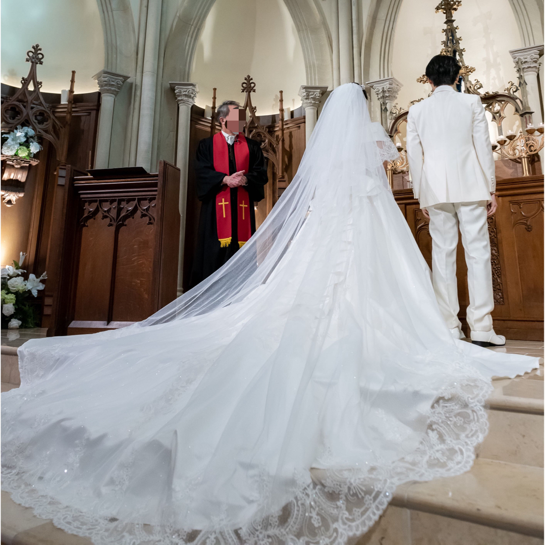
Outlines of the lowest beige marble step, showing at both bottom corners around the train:
{"label": "lowest beige marble step, showing at both bottom corners around the train", "polygon": [[[357,545],[542,545],[543,469],[478,459],[463,475],[413,482]],[[2,492],[5,545],[89,545]]]}

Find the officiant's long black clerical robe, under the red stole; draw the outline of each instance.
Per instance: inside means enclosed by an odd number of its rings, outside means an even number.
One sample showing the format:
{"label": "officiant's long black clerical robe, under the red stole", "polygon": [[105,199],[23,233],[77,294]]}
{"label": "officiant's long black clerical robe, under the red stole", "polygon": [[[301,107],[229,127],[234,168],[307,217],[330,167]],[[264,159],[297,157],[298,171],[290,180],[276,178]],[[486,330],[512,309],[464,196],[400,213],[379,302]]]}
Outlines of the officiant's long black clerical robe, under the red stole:
{"label": "officiant's long black clerical robe, under the red stole", "polygon": [[[256,213],[251,204],[265,198],[265,184],[268,181],[267,165],[261,151],[261,145],[256,140],[246,138],[250,152],[249,171],[245,174],[248,184],[245,186],[250,195],[250,221],[252,234],[256,232]],[[229,153],[229,175],[237,172],[233,144],[227,144]],[[222,185],[225,173],[214,170],[213,137],[204,138],[197,147],[195,161],[197,180],[197,197],[201,201],[201,217],[197,235],[197,249],[191,272],[191,287],[202,282],[219,269],[234,253],[239,250],[237,236],[237,189],[231,189],[230,202],[234,203],[231,211],[232,241],[222,248],[217,236],[216,195],[225,185]]]}

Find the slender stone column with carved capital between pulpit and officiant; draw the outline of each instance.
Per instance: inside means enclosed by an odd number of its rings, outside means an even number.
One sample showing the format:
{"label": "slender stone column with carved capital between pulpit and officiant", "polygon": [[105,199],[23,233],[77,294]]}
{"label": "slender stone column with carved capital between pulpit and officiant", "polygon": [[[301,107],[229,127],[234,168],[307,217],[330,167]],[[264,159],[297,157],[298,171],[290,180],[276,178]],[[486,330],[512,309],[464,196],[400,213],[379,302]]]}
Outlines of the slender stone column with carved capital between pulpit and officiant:
{"label": "slender stone column with carved capital between pulpit and officiant", "polygon": [[178,249],[178,296],[183,290],[184,280],[184,245],[185,245],[185,210],[187,203],[187,166],[189,164],[189,130],[191,106],[199,89],[196,83],[170,82],[178,102],[178,146],[176,148],[176,166],[180,169],[180,240]]}

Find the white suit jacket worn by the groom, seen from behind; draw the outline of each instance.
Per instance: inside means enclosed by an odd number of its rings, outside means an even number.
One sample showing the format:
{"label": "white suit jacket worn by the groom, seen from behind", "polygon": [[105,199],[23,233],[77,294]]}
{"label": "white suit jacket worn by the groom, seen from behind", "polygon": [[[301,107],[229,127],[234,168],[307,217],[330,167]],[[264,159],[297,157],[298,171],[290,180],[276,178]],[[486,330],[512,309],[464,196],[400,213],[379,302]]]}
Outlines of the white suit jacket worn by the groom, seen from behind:
{"label": "white suit jacket worn by the groom, seen from behind", "polygon": [[422,208],[489,201],[496,190],[495,167],[479,96],[443,85],[411,106],[407,158],[414,196]]}

